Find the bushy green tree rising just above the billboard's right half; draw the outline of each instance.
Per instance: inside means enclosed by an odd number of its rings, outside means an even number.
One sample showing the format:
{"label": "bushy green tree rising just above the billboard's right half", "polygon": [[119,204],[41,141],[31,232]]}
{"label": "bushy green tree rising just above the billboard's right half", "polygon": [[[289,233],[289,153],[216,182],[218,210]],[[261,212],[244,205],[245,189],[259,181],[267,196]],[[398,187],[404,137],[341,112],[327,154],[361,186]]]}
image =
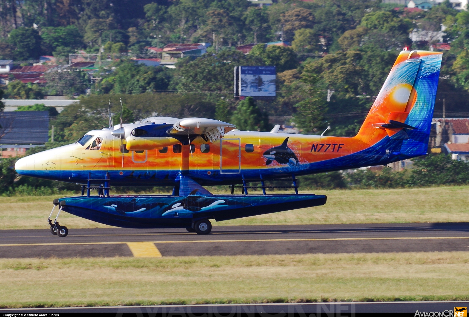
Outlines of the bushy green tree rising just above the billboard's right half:
{"label": "bushy green tree rising just above the billboard's right half", "polygon": [[276,66],[278,73],[298,67],[296,53],[291,47],[270,45],[265,48],[264,44],[257,44],[250,55],[262,60],[266,66]]}

